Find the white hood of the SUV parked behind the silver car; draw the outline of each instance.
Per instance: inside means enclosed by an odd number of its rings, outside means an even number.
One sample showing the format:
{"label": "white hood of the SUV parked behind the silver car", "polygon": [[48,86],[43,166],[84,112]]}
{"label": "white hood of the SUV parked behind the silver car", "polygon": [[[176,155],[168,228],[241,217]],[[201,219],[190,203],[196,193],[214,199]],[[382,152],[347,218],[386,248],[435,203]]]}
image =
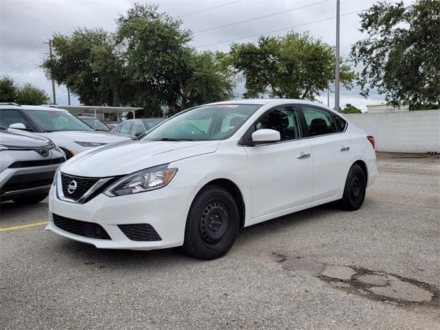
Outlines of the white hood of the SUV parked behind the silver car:
{"label": "white hood of the SUV parked behind the silver car", "polygon": [[103,131],[57,131],[45,133],[52,140],[64,139],[78,142],[115,143],[131,140],[131,137]]}

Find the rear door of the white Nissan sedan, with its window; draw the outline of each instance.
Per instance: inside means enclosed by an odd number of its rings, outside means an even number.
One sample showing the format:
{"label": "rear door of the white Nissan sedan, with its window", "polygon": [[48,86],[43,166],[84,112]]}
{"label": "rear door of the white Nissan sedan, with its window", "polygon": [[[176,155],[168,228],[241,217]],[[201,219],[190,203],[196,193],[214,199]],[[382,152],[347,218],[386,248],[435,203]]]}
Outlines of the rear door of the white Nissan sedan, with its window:
{"label": "rear door of the white Nissan sedan, with its window", "polygon": [[314,159],[313,201],[319,201],[343,188],[351,161],[350,142],[331,111],[309,105],[301,109]]}

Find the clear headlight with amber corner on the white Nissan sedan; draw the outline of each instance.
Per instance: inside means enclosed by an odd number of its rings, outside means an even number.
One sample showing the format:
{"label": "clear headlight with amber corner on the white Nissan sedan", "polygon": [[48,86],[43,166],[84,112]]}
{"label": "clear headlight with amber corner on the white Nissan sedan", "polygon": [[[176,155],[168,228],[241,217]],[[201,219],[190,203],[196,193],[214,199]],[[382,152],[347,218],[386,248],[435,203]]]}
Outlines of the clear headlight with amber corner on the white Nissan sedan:
{"label": "clear headlight with amber corner on the white Nissan sedan", "polygon": [[107,188],[104,194],[115,197],[162,188],[177,172],[177,168],[167,168],[167,166],[168,164],[155,166],[126,175]]}

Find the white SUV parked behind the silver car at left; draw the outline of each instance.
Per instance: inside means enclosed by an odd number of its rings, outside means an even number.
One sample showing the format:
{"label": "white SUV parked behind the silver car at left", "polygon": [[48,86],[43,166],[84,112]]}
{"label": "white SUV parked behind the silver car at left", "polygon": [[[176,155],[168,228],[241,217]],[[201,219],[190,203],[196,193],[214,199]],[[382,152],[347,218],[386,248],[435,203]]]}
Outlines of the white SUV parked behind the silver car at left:
{"label": "white SUV parked behind the silver car at left", "polygon": [[49,137],[67,159],[89,148],[129,140],[129,137],[91,129],[72,113],[56,107],[0,103],[0,125]]}

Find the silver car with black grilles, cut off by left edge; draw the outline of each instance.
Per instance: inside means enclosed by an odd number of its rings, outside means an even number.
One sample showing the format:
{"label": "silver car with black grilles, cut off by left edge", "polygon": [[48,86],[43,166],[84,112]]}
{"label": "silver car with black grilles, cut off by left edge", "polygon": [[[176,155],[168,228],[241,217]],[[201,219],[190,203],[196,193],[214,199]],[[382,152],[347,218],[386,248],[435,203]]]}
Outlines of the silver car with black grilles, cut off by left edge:
{"label": "silver car with black grilles, cut off by left edge", "polygon": [[0,201],[39,203],[63,162],[63,151],[46,137],[0,126]]}

